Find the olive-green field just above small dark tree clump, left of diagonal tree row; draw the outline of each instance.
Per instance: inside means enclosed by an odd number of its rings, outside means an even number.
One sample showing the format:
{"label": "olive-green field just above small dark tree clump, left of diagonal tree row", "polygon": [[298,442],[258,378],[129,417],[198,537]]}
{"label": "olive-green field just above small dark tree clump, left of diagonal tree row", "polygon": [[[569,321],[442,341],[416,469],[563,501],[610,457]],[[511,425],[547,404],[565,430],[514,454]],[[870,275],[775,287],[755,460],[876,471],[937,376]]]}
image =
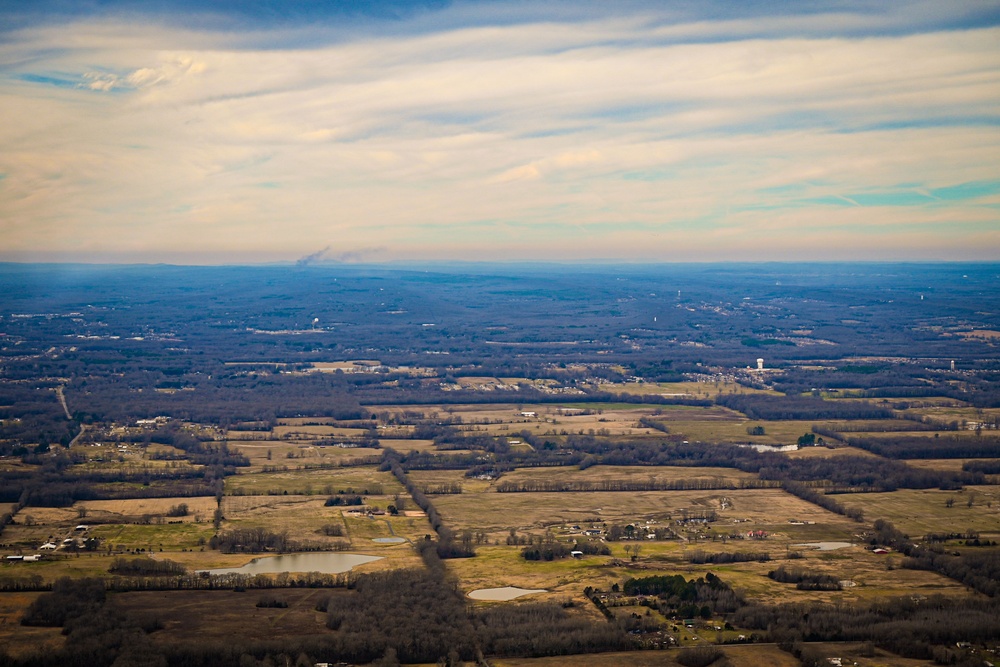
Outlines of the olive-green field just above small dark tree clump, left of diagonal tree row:
{"label": "olive-green field just above small dark tree clump, left of diagonal tree row", "polygon": [[374,467],[258,472],[226,478],[228,495],[394,494],[403,487],[391,473]]}

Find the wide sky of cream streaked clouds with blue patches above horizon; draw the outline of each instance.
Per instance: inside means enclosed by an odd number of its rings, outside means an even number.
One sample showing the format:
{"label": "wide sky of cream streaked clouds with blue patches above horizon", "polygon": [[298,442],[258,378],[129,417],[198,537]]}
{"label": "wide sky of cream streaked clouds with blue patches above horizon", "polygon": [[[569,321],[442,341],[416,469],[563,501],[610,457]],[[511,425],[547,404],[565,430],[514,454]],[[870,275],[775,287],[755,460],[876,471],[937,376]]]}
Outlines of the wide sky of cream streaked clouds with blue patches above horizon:
{"label": "wide sky of cream streaked clouds with blue patches above horizon", "polygon": [[1000,0],[0,0],[0,261],[1000,260]]}

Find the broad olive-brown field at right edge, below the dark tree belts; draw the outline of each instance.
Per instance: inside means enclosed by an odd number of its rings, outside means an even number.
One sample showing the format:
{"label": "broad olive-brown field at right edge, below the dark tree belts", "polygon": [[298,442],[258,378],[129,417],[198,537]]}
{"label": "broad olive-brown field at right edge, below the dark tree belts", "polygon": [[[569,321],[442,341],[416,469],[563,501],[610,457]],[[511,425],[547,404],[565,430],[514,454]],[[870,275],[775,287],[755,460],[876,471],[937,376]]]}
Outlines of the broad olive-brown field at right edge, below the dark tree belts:
{"label": "broad olive-brown field at right edge, below the dark tree belts", "polygon": [[1000,534],[1000,490],[995,486],[969,486],[961,491],[899,489],[842,495],[837,500],[848,507],[862,508],[869,520],[885,519],[915,539],[927,533],[967,530],[983,533],[984,537]]}

